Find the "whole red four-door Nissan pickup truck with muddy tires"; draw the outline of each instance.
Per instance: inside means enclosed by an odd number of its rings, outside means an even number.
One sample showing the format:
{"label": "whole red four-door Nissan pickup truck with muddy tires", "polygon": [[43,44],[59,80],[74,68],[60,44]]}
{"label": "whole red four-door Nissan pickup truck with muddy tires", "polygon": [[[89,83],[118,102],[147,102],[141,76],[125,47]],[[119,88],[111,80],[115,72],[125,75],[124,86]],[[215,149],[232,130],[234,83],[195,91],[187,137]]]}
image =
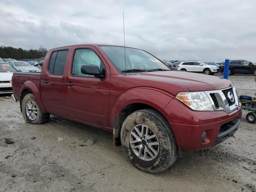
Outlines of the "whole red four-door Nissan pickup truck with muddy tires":
{"label": "whole red four-door Nissan pickup truck with muddy tires", "polygon": [[51,49],[41,73],[14,73],[24,120],[50,114],[113,132],[127,158],[150,173],[179,151],[209,148],[238,129],[241,103],[232,82],[172,70],[136,48],[80,44]]}

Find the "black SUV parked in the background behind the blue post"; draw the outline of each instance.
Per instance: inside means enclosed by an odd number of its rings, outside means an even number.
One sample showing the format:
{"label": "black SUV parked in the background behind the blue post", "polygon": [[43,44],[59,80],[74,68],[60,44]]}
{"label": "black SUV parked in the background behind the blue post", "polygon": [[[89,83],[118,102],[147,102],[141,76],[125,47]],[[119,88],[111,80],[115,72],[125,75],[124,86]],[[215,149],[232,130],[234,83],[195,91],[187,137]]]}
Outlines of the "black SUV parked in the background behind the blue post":
{"label": "black SUV parked in the background behind the blue post", "polygon": [[[224,72],[224,64],[220,65],[220,72]],[[231,60],[229,62],[228,74],[254,74],[256,75],[256,65],[249,65],[246,60]]]}

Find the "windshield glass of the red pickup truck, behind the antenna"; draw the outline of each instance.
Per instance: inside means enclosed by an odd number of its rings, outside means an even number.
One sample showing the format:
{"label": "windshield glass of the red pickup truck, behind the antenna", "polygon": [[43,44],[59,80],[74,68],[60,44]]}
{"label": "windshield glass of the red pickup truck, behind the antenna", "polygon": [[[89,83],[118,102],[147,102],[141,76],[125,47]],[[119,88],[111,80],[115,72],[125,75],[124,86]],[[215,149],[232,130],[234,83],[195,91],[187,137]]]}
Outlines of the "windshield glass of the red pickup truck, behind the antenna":
{"label": "windshield glass of the red pickup truck, behind the antenna", "polygon": [[[160,60],[149,53],[135,49],[125,48],[126,67],[124,62],[124,47],[100,46],[119,72],[124,70],[170,70]],[[136,72],[136,70],[134,70]]]}

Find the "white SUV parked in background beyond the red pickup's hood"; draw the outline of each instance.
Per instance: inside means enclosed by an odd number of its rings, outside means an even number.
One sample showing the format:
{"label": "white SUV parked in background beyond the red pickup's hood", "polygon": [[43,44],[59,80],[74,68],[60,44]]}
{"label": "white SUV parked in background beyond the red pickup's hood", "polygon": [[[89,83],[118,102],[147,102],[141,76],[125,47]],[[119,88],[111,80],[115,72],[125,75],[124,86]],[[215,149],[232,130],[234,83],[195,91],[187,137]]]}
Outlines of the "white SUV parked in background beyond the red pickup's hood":
{"label": "white SUV parked in background beyond the red pickup's hood", "polygon": [[201,61],[181,62],[177,66],[177,70],[195,72],[195,73],[203,73],[206,75],[213,75],[214,73],[218,73],[218,68],[216,66],[208,65]]}

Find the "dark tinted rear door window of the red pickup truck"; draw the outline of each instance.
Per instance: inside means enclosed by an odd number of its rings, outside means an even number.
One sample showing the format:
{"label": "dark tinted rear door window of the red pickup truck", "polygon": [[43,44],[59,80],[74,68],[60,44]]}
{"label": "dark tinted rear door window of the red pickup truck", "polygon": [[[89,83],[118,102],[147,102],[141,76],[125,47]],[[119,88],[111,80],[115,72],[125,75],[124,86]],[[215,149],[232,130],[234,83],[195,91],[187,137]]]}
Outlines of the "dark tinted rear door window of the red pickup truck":
{"label": "dark tinted rear door window of the red pickup truck", "polygon": [[52,57],[48,67],[48,70],[51,74],[63,74],[67,55],[68,50],[55,51],[52,53]]}

